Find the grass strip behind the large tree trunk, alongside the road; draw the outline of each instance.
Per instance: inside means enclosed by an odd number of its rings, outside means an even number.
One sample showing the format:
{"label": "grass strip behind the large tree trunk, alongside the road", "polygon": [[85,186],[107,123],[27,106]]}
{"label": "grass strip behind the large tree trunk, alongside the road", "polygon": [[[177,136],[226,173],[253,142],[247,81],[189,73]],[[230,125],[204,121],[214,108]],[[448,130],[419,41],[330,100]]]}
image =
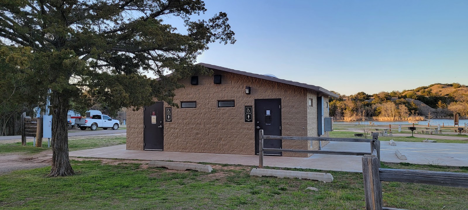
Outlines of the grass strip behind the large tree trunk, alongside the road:
{"label": "grass strip behind the large tree trunk, alongside the road", "polygon": [[[68,138],[68,149],[70,151],[92,149],[97,147],[109,147],[119,144],[125,144],[125,136],[102,136],[102,137],[80,137],[80,138]],[[32,147],[32,141],[28,141],[26,146],[21,146],[21,142],[0,144],[0,154],[20,152],[25,154],[36,154],[45,150],[51,150],[47,148],[47,139],[42,139],[42,147]]]}

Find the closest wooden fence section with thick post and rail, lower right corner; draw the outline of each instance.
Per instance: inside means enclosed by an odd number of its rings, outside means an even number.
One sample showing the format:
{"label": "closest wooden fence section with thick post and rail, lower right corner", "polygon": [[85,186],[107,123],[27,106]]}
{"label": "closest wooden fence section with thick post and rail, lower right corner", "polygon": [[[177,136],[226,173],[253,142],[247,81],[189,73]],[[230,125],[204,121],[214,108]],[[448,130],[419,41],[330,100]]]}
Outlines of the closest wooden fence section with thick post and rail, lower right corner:
{"label": "closest wooden fence section with thick post and rail, lower right corner", "polygon": [[383,207],[381,181],[468,188],[468,173],[380,168],[379,158],[370,154],[362,157],[362,175],[366,210],[401,210]]}

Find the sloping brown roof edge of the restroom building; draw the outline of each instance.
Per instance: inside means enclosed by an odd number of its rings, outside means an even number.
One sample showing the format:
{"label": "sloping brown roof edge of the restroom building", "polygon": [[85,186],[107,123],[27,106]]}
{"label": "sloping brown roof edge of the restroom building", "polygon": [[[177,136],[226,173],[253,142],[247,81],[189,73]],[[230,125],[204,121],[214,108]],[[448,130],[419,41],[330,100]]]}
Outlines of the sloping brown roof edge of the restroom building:
{"label": "sloping brown roof edge of the restroom building", "polygon": [[294,85],[294,86],[307,88],[309,90],[319,92],[319,93],[322,93],[322,94],[330,96],[330,97],[335,97],[335,98],[339,97],[337,94],[335,94],[335,93],[333,93],[331,91],[328,91],[328,90],[326,90],[326,89],[324,89],[322,87],[315,86],[315,85],[312,85],[312,84],[298,83],[298,82],[294,82],[294,81],[290,81],[290,80],[279,79],[279,78],[276,78],[276,77],[269,77],[269,76],[265,76],[265,75],[261,75],[261,74],[254,74],[254,73],[250,73],[250,72],[246,72],[246,71],[228,69],[228,68],[225,68],[225,67],[216,66],[216,65],[212,65],[212,64],[208,64],[208,63],[197,63],[197,65],[202,65],[202,66],[205,66],[206,68],[209,68],[209,69],[212,69],[212,70],[227,71],[227,72],[231,72],[231,73],[234,73],[234,74],[241,74],[241,75],[245,75],[245,76],[249,76],[249,77],[256,77],[256,78],[260,78],[260,79],[266,79],[266,80],[270,80],[270,81],[273,81],[273,82],[278,82],[278,83],[283,83],[283,84],[291,84],[291,85]]}

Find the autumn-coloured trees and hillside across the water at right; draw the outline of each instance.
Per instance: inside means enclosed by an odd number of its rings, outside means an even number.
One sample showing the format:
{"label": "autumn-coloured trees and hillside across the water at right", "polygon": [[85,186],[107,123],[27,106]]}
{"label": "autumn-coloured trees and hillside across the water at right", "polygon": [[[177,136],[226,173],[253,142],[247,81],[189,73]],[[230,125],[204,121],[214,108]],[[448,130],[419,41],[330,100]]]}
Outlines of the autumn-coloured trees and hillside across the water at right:
{"label": "autumn-coloured trees and hillside across the water at right", "polygon": [[[330,116],[335,120],[345,121],[396,121],[396,120],[424,120],[428,115],[436,118],[450,118],[453,113],[468,117],[468,94],[453,91],[440,96],[429,86],[419,87],[409,91],[381,91],[370,95],[358,92],[354,95],[339,95],[330,98]],[[443,84],[453,88],[467,87],[453,83]]]}

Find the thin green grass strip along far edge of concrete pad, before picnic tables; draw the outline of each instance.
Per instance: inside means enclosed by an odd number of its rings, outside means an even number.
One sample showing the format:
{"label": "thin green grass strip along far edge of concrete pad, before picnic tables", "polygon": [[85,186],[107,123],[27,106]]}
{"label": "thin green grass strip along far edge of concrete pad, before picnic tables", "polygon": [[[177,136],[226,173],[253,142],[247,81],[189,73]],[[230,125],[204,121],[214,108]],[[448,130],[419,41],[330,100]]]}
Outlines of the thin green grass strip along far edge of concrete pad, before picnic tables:
{"label": "thin green grass strip along far edge of concrete pad, before picnic tables", "polygon": [[[330,137],[333,138],[357,138],[354,136],[354,133],[357,132],[351,132],[351,131],[332,131],[330,132]],[[364,134],[364,133],[363,133]],[[367,138],[371,138],[370,132],[369,136]],[[411,141],[411,142],[422,142],[425,140],[425,138],[417,138],[417,137],[411,137],[411,136],[379,136],[379,140],[381,141],[389,141],[389,140],[394,140],[394,141]],[[444,140],[444,139],[430,139],[430,140],[436,140],[438,143],[461,143],[461,144],[466,144],[468,143],[468,138],[467,140]]]}

